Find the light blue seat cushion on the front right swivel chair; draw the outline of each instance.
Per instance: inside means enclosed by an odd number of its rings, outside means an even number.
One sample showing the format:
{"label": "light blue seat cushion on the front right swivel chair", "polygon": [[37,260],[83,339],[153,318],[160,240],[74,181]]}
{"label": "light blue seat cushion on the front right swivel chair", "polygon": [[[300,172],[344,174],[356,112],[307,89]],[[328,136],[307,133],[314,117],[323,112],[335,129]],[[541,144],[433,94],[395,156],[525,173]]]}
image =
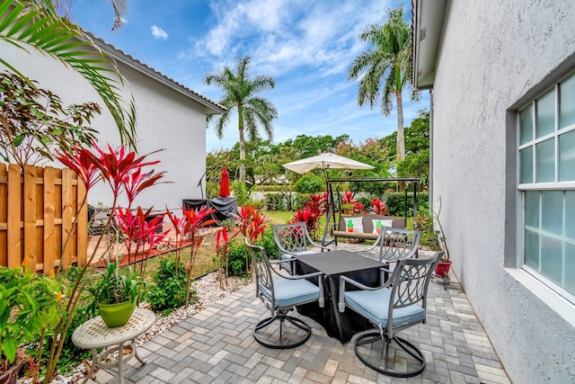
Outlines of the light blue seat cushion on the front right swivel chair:
{"label": "light blue seat cushion on the front right swivel chair", "polygon": [[[389,298],[391,290],[352,290],[345,292],[345,302],[358,314],[367,317],[376,326],[385,328],[388,322]],[[419,323],[425,318],[425,309],[417,304],[409,307],[395,308],[393,326]]]}

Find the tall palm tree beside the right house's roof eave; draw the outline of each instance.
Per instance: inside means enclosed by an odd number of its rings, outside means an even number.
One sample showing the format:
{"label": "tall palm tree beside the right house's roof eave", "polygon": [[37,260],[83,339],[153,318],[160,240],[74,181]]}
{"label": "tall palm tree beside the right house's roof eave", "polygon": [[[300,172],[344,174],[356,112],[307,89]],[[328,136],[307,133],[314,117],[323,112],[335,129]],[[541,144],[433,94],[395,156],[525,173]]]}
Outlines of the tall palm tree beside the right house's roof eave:
{"label": "tall palm tree beside the right house's roof eave", "polygon": [[350,80],[359,80],[358,104],[373,109],[381,97],[381,112],[389,116],[397,104],[397,160],[405,157],[403,137],[403,89],[411,92],[411,101],[420,94],[411,88],[411,31],[403,20],[403,7],[388,10],[383,26],[372,24],[359,33],[359,40],[374,46],[353,60],[348,70]]}

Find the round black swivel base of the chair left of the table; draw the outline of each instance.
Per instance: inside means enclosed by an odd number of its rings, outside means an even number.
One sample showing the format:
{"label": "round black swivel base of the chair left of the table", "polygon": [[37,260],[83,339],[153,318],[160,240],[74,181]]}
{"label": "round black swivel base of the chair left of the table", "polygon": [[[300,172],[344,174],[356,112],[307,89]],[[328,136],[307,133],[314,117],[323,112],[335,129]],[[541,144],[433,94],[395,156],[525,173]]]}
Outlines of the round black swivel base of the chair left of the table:
{"label": "round black swivel base of the chair left of the table", "polygon": [[[279,321],[279,335],[273,337],[273,332],[266,333],[265,330],[268,326],[273,326],[273,323],[276,321]],[[289,324],[293,326],[289,326]],[[291,332],[289,332],[290,329],[292,330]],[[303,335],[295,337],[300,330],[304,331]],[[278,332],[276,332],[276,334],[278,334]],[[280,311],[278,311],[274,317],[261,320],[253,329],[253,337],[259,344],[274,349],[296,348],[299,345],[305,344],[311,335],[312,328],[307,325],[304,320],[288,316],[286,313]]]}

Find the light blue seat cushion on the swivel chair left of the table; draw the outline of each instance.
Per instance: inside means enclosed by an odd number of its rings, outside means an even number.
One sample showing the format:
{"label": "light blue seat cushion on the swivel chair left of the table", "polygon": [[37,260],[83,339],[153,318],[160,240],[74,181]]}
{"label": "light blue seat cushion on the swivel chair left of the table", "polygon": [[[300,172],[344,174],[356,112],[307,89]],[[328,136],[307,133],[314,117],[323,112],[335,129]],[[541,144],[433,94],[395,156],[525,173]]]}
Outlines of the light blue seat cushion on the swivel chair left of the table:
{"label": "light blue seat cushion on the swivel chair left of the table", "polygon": [[[289,308],[320,298],[319,287],[305,279],[274,279],[273,288],[276,295],[275,306],[278,308]],[[269,290],[263,287],[260,287],[260,289],[264,296],[270,297]]]}

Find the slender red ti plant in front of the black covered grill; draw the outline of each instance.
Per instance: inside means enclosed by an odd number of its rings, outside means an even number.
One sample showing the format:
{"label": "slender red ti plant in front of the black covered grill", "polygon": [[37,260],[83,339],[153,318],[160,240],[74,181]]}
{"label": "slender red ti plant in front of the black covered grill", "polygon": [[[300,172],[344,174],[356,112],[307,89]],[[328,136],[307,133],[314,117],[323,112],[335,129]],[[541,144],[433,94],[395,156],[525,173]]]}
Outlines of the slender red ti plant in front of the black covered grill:
{"label": "slender red ti plant in front of the black covered grill", "polygon": [[204,241],[204,236],[201,234],[201,228],[208,227],[212,224],[216,224],[216,219],[208,219],[209,215],[211,215],[216,210],[213,208],[207,208],[205,205],[202,206],[199,210],[194,210],[190,208],[190,210],[186,210],[184,207],[181,207],[181,211],[183,212],[184,221],[183,226],[181,227],[181,233],[183,236],[188,237],[191,241],[190,245],[190,263],[186,266],[188,270],[188,279],[186,280],[186,308],[188,308],[190,304],[190,287],[191,287],[191,271],[196,263],[196,255],[198,255],[199,246]]}

